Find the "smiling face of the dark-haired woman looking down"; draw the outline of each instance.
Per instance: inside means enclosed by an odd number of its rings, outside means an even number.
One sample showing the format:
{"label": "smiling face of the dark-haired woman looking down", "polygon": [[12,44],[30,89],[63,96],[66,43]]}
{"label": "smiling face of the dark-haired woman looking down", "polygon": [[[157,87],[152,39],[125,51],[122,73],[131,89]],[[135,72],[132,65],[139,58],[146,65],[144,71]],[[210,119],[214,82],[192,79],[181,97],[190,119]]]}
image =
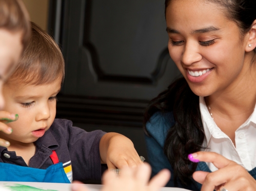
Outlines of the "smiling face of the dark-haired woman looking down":
{"label": "smiling face of the dark-haired woman looking down", "polygon": [[[218,4],[190,2],[191,7],[187,7],[187,2],[172,1],[166,9],[167,28],[178,32],[168,32],[170,56],[196,95],[222,93],[223,88],[236,86],[249,71],[250,62],[244,65],[249,36],[241,40],[237,23],[226,17]],[[189,11],[191,8],[197,12]],[[207,73],[199,75],[204,70]]]}

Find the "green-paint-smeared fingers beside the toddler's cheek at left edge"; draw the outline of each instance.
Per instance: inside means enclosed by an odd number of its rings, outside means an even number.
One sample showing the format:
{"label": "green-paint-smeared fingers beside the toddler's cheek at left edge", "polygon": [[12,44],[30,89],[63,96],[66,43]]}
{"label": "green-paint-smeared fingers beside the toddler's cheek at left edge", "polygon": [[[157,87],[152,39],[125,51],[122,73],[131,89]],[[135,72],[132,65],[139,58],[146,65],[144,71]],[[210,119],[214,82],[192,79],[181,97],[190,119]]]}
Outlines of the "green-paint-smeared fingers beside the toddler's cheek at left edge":
{"label": "green-paint-smeared fingers beside the toddler's cheek at left edge", "polygon": [[[8,127],[6,123],[17,120],[17,115],[11,114],[7,111],[0,111],[0,131],[11,134],[12,128]],[[8,147],[10,142],[0,138],[0,146]]]}

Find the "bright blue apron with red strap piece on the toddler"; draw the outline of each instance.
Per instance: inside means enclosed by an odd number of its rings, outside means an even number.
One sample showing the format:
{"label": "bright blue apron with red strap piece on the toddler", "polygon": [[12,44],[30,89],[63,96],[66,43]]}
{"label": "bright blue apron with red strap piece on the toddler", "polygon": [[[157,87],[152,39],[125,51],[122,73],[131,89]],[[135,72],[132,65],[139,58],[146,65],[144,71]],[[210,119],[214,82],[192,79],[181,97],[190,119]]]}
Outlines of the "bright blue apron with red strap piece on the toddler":
{"label": "bright blue apron with red strap piece on the toddler", "polygon": [[0,162],[0,181],[70,183],[55,151],[50,158],[53,164],[45,170]]}

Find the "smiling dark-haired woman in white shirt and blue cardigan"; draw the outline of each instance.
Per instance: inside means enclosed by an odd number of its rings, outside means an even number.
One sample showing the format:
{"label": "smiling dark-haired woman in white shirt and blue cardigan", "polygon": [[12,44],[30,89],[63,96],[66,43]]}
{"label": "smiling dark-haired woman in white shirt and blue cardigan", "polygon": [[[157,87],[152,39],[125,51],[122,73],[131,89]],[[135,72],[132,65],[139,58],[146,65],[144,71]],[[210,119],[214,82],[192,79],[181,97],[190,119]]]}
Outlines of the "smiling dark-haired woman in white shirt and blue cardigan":
{"label": "smiling dark-haired woman in white shirt and blue cardigan", "polygon": [[[168,168],[167,186],[192,190],[219,190],[224,184],[228,190],[253,189],[256,2],[166,0],[165,5],[169,54],[183,78],[145,112],[153,175]],[[189,155],[198,151],[218,154]],[[241,182],[244,178],[248,181]]]}

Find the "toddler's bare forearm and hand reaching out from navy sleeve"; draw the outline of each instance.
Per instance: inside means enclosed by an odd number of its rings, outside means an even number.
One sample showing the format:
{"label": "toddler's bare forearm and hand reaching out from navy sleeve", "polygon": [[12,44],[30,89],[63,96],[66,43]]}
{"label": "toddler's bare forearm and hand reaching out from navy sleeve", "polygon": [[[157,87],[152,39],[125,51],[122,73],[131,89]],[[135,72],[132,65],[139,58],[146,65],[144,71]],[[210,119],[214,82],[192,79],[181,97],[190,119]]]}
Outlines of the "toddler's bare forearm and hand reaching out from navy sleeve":
{"label": "toddler's bare forearm and hand reaching out from navy sleeve", "polygon": [[124,166],[136,168],[143,163],[134,149],[132,141],[119,133],[106,133],[100,141],[101,162],[108,169],[122,169]]}

